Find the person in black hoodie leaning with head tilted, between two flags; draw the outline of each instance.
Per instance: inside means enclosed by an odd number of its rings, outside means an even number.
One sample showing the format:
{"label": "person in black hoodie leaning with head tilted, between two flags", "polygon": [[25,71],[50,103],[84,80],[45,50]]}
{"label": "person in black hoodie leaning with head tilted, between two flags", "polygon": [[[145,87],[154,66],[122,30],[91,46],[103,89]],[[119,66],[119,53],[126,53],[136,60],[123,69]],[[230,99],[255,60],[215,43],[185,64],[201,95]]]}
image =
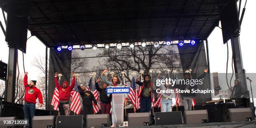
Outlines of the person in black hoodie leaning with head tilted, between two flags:
{"label": "person in black hoodie leaning with head tilted, between two flags", "polygon": [[86,116],[87,114],[93,114],[92,101],[95,105],[97,105],[97,101],[92,94],[92,92],[88,91],[84,85],[78,86],[79,93],[82,97],[83,110],[84,110],[84,124],[86,125]]}

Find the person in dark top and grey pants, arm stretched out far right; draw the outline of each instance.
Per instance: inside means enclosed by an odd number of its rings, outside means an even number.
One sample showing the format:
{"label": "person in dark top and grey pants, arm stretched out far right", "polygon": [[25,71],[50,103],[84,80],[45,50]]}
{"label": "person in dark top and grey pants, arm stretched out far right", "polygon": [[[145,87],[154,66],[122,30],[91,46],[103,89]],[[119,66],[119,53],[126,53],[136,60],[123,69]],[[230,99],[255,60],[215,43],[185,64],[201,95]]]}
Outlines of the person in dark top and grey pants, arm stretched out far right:
{"label": "person in dark top and grey pants, arm stretched out far right", "polygon": [[[205,69],[204,73],[200,75],[197,80],[202,79],[205,77],[206,73],[208,72],[208,68]],[[190,80],[190,74],[184,73],[184,80]],[[196,89],[197,85],[191,86],[191,85],[174,85],[174,88],[179,88],[180,90],[190,90],[192,92],[192,89]],[[180,97],[182,98],[182,104],[184,105],[184,110],[192,110],[192,100],[196,96],[196,93],[180,93]]]}

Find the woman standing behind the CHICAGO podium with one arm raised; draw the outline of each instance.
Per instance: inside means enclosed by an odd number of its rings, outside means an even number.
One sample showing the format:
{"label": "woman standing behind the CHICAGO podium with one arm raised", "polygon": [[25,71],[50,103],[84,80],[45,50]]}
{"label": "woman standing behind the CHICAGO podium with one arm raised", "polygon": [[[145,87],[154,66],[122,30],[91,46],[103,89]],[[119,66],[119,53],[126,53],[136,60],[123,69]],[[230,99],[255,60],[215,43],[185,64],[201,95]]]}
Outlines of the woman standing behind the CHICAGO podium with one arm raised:
{"label": "woman standing behind the CHICAGO podium with one arm raised", "polygon": [[[108,80],[106,80],[106,78],[105,78],[105,73],[106,73],[107,71],[108,71],[108,69],[105,69],[105,70],[103,71],[103,73],[102,73],[102,80],[103,80],[104,83],[106,83],[107,85],[111,85],[111,86],[122,85],[122,84],[120,84],[120,80],[119,80],[119,78],[118,78],[117,75],[114,75],[114,76],[113,76],[111,82],[108,81]],[[108,96],[111,97],[112,95],[109,95],[109,94],[108,94]],[[112,102],[112,104],[114,104],[114,103],[113,103],[113,100],[112,100],[111,102]],[[113,108],[112,108],[112,125],[111,125],[111,127],[115,127],[115,124],[116,124],[116,118],[115,118],[114,114],[115,114],[115,110],[113,110]]]}

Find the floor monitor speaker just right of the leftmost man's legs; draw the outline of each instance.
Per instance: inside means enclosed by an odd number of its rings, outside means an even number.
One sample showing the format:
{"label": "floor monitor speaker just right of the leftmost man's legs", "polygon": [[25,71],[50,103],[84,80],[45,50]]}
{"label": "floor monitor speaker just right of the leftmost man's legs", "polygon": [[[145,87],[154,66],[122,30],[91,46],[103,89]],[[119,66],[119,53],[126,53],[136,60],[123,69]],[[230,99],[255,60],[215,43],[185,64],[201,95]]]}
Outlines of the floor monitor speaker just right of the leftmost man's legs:
{"label": "floor monitor speaker just right of the leftmost man's legs", "polygon": [[33,128],[55,128],[55,120],[54,115],[34,116],[32,125]]}

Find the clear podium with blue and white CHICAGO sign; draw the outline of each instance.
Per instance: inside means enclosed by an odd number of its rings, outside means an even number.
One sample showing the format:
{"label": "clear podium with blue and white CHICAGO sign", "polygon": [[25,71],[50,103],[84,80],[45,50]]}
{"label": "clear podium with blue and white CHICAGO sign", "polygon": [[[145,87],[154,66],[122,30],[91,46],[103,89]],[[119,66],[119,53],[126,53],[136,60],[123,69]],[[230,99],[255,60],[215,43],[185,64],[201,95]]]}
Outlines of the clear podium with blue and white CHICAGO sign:
{"label": "clear podium with blue and white CHICAGO sign", "polygon": [[112,94],[112,117],[115,118],[115,124],[116,126],[123,126],[124,94],[130,93],[130,87],[109,86],[106,91],[107,94]]}

